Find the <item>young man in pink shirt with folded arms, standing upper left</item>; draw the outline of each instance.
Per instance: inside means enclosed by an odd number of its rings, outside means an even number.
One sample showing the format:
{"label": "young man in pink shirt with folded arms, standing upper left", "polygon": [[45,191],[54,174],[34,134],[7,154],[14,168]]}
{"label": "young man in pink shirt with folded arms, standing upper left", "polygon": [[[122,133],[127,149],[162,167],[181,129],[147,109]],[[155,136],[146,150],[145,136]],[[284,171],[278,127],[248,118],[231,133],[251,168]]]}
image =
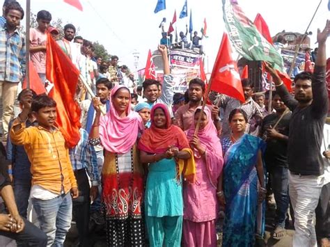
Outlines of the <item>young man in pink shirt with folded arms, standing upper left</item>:
{"label": "young man in pink shirt with folded arms, standing upper left", "polygon": [[40,10],[37,14],[38,27],[31,29],[30,34],[31,61],[43,83],[46,79],[46,31],[51,20],[52,15],[47,10]]}

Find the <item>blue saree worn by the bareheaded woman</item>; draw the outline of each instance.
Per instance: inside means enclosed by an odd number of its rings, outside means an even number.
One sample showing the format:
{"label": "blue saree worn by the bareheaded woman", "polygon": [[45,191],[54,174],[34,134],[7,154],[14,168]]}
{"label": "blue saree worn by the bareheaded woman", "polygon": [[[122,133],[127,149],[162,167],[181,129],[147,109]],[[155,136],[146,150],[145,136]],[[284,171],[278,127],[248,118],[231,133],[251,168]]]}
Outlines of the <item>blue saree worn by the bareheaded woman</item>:
{"label": "blue saree worn by the bareheaded woman", "polygon": [[[226,150],[223,169],[223,192],[226,198],[222,246],[254,246],[256,235],[265,232],[265,203],[258,205],[258,150],[265,143],[244,134],[236,143],[222,140]],[[228,148],[228,146],[230,146]]]}

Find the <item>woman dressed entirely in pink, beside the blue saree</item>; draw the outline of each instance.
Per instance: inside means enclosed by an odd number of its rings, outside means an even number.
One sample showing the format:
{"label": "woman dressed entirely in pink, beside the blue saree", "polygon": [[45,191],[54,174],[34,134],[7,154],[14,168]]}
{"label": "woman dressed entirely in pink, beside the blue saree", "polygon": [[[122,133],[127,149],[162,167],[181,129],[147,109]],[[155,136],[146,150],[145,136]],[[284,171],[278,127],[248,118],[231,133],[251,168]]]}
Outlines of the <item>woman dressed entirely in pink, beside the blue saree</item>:
{"label": "woman dressed entirely in pink, beside the blue saree", "polygon": [[[223,157],[217,129],[211,111],[199,106],[194,123],[187,130],[187,138],[194,150],[196,182],[183,186],[183,243],[184,246],[217,246],[215,223],[218,212],[217,188],[222,183]],[[195,136],[195,125],[202,114],[201,125]]]}

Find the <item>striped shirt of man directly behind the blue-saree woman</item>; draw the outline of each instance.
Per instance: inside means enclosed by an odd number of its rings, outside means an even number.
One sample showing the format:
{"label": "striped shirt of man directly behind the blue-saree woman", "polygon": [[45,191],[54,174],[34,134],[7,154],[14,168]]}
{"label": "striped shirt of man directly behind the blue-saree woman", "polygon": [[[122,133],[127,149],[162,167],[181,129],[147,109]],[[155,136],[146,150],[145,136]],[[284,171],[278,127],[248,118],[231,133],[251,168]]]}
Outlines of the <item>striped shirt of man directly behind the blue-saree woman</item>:
{"label": "striped shirt of man directly behind the blue-saree woman", "polygon": [[[244,104],[237,99],[229,97],[227,95],[219,95],[217,99],[217,103],[219,106],[224,110],[223,119],[222,119],[222,136],[229,136],[230,135],[230,127],[229,127],[229,114],[234,109],[242,109],[245,111],[247,118],[248,118],[248,125],[246,126],[246,133],[250,133],[250,125],[251,123],[260,122],[262,119],[262,113],[260,111],[260,106],[250,98]],[[255,129],[255,128],[253,128]],[[252,129],[251,129],[252,130]]]}

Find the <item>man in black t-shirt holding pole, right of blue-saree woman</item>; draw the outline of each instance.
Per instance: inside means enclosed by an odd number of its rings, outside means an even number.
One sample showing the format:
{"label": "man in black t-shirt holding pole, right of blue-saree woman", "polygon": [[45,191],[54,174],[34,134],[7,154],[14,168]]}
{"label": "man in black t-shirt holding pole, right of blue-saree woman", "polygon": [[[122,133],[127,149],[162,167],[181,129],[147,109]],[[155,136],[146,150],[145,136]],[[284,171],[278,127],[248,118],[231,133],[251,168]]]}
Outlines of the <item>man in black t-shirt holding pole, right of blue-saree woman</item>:
{"label": "man in black t-shirt holding pole, right of blue-saree woman", "polygon": [[[276,202],[275,228],[272,237],[281,239],[285,235],[285,216],[289,207],[287,149],[291,113],[276,92],[273,93],[272,106],[276,113],[267,115],[264,118],[260,136],[264,139],[267,137],[265,163]],[[278,122],[277,125],[276,122]]]}

